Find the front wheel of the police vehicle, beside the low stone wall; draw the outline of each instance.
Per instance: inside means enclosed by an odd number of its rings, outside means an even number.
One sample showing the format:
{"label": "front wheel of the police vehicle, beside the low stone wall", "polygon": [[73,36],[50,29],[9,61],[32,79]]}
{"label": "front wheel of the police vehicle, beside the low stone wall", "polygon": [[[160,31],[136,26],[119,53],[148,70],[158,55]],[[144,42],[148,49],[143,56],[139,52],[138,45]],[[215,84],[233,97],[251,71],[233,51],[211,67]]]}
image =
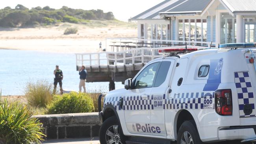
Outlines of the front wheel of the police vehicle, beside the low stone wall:
{"label": "front wheel of the police vehicle, beside the low stone wall", "polygon": [[100,144],[125,144],[125,137],[116,116],[111,116],[103,122],[99,137]]}

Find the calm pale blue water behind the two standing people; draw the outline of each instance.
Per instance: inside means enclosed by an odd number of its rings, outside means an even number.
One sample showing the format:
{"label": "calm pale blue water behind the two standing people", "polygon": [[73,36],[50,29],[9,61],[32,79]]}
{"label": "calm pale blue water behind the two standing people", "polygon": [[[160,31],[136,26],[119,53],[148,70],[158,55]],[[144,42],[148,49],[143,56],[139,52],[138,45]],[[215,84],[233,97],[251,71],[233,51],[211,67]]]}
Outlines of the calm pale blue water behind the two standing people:
{"label": "calm pale blue water behind the two standing people", "polygon": [[[28,81],[46,79],[53,83],[55,65],[63,71],[63,89],[78,91],[79,74],[74,54],[37,51],[0,50],[0,89],[2,95],[24,95]],[[121,82],[116,89],[123,88]],[[108,91],[108,82],[86,83],[86,89]]]}

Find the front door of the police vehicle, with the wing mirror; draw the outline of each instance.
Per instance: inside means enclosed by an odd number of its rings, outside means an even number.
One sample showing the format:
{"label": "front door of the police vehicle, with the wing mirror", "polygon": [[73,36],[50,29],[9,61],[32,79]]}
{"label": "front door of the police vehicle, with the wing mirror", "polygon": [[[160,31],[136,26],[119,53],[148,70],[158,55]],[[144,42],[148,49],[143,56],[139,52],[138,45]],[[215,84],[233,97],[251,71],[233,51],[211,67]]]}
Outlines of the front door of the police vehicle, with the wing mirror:
{"label": "front door of the police vehicle, with the wing mirror", "polygon": [[148,63],[132,80],[132,88],[126,91],[123,100],[123,110],[127,130],[130,133],[150,134],[150,109],[153,103],[150,99],[156,72],[161,60]]}

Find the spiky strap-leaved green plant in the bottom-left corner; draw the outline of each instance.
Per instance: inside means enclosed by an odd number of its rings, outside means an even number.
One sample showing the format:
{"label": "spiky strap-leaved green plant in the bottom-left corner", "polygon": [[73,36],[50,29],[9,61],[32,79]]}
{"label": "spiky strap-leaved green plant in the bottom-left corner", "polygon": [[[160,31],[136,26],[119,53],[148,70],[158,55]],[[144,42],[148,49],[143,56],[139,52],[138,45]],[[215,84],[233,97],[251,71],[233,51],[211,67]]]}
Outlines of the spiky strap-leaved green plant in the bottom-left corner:
{"label": "spiky strap-leaved green plant in the bottom-left corner", "polygon": [[0,101],[0,144],[41,143],[42,123],[19,102]]}

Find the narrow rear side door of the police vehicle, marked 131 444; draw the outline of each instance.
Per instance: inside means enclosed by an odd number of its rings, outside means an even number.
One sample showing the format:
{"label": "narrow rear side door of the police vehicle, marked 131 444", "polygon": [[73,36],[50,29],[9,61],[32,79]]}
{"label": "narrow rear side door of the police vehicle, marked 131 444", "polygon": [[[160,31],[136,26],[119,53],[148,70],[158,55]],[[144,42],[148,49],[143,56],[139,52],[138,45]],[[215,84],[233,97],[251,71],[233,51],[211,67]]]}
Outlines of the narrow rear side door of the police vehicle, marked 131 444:
{"label": "narrow rear side door of the police vehicle, marked 131 444", "polygon": [[165,129],[164,103],[168,94],[171,92],[169,83],[174,63],[174,59],[163,59],[150,94],[153,102],[153,109],[150,111],[150,131],[154,135],[167,135]]}

